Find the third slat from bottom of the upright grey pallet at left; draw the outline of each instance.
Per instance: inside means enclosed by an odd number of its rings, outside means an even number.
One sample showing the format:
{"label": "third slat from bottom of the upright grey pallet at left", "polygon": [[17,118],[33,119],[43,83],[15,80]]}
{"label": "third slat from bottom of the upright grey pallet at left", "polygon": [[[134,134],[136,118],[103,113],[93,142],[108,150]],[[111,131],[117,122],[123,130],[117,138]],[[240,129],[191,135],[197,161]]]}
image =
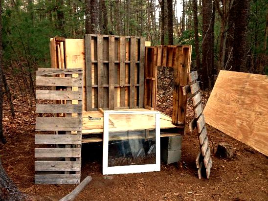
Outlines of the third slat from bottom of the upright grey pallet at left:
{"label": "third slat from bottom of the upright grey pallet at left", "polygon": [[81,157],[81,148],[35,148],[36,158]]}

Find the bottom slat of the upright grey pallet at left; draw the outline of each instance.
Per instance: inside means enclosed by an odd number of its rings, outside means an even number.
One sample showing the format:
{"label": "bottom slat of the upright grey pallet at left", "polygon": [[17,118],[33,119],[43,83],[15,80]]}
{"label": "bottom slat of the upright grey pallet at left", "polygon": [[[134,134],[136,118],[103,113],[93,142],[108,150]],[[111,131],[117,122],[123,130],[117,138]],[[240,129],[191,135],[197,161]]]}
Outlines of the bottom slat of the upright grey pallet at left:
{"label": "bottom slat of the upright grey pallet at left", "polygon": [[78,184],[80,174],[75,175],[35,175],[35,184]]}

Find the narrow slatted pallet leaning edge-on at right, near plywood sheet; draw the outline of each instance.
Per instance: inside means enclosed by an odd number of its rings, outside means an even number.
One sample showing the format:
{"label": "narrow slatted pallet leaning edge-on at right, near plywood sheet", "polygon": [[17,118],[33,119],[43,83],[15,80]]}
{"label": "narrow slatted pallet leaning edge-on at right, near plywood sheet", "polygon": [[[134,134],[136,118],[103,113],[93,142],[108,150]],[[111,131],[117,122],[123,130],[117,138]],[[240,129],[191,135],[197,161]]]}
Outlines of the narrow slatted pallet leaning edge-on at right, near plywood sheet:
{"label": "narrow slatted pallet leaning edge-on at right, near plywood sheet", "polygon": [[193,109],[195,113],[195,118],[190,122],[189,128],[193,132],[197,128],[198,139],[200,144],[200,152],[196,159],[196,165],[198,168],[198,177],[201,179],[202,175],[206,175],[206,178],[209,179],[210,169],[212,167],[212,159],[209,148],[209,142],[206,132],[205,119],[203,114],[203,106],[201,103],[201,93],[199,82],[197,82],[198,74],[197,71],[189,73],[189,84],[183,87],[183,95],[187,93],[191,94]]}

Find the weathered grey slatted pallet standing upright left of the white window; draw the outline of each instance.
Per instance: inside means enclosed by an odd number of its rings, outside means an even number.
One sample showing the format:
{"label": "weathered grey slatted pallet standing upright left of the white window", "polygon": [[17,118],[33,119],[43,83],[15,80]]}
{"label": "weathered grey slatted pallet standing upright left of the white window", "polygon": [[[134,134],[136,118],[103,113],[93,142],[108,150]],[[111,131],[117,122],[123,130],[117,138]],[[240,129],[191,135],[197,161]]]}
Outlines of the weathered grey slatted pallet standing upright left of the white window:
{"label": "weathered grey slatted pallet standing upright left of the white window", "polygon": [[[74,77],[77,75],[78,77]],[[51,77],[52,75],[52,77]],[[65,75],[65,76],[63,76]],[[66,100],[66,104],[37,104],[37,113],[63,113],[61,117],[36,117],[35,183],[76,184],[80,182],[82,141],[82,68],[39,68],[36,85],[61,90],[36,90],[37,100]],[[77,89],[77,90],[74,90]],[[72,104],[77,100],[77,104]],[[51,102],[52,102],[51,101]]]}

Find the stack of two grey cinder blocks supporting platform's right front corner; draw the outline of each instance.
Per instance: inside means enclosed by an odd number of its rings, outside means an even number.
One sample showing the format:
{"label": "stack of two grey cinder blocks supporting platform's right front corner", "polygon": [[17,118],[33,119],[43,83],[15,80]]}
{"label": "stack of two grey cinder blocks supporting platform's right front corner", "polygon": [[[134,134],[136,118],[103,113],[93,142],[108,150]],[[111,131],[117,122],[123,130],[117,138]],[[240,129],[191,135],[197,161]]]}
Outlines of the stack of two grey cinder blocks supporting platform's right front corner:
{"label": "stack of two grey cinder blocks supporting platform's right front corner", "polygon": [[182,135],[161,137],[161,159],[167,163],[174,163],[180,160]]}

